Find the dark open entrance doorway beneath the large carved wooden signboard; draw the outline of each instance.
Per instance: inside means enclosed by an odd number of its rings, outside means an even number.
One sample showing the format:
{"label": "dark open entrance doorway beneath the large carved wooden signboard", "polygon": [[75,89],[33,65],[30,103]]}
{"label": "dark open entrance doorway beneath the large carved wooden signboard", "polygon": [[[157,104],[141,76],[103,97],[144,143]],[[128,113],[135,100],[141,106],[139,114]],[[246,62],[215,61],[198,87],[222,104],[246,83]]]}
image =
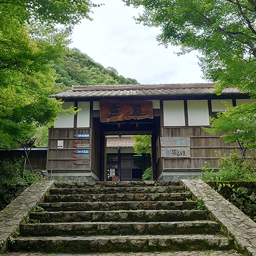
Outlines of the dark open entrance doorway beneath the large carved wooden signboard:
{"label": "dark open entrance doorway beneath the large carved wooden signboard", "polygon": [[[156,140],[160,131],[160,117],[142,120],[125,120],[119,122],[100,123],[100,170],[101,180],[132,181],[142,180],[145,169],[152,166],[153,179],[156,179]],[[151,135],[152,154],[137,155],[133,148],[117,146],[107,147],[108,138],[131,137],[132,135]],[[103,146],[104,145],[104,146]],[[111,149],[111,150],[110,150]],[[131,151],[132,150],[132,151]]]}

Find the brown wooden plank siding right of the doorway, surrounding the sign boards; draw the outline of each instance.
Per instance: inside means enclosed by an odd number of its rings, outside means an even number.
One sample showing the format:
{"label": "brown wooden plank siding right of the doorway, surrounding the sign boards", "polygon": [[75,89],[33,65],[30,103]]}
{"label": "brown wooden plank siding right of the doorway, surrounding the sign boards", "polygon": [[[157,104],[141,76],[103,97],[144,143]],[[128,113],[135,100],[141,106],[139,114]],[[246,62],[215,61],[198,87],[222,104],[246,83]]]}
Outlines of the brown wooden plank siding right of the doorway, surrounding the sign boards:
{"label": "brown wooden plank siding right of the doorway, surrounding the sign boards", "polygon": [[[163,170],[201,170],[205,162],[210,163],[211,167],[218,166],[218,157],[216,152],[223,156],[225,153],[229,156],[230,150],[241,149],[238,143],[226,144],[220,139],[221,134],[211,135],[202,130],[201,127],[161,127],[161,137],[190,137],[190,158],[173,159],[160,158],[158,163],[158,175]],[[218,167],[217,167],[218,169]]]}

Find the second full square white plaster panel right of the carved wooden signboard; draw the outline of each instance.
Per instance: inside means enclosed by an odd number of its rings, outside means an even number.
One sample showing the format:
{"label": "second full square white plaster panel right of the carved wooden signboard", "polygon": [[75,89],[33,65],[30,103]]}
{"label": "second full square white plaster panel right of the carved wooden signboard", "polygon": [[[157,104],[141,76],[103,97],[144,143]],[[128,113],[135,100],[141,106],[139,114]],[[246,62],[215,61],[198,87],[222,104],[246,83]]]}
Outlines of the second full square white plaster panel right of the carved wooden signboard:
{"label": "second full square white plaster panel right of the carved wooden signboard", "polygon": [[208,100],[187,100],[188,125],[209,125]]}

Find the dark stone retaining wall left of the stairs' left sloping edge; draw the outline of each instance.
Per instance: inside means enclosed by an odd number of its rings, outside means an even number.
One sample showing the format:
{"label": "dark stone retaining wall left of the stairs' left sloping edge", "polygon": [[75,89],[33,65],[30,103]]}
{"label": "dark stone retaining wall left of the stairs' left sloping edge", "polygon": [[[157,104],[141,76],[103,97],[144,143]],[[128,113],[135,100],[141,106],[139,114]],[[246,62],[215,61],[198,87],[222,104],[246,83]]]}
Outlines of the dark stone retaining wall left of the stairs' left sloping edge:
{"label": "dark stone retaining wall left of the stairs' left sloping edge", "polygon": [[30,185],[31,183],[25,182],[15,184],[0,183],[0,210],[3,210]]}

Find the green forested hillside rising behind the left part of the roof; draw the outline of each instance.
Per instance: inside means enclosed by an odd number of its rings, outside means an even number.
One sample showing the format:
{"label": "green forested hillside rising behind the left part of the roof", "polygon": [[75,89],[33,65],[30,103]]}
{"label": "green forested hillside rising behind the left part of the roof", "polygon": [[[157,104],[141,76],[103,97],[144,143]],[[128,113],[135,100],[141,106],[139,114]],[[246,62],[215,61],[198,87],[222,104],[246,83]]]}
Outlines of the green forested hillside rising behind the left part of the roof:
{"label": "green forested hillside rising behind the left part of the roof", "polygon": [[118,75],[114,68],[104,68],[78,49],[69,49],[68,54],[62,59],[62,63],[53,66],[56,70],[57,87],[61,91],[70,90],[72,85],[138,84],[135,79]]}

